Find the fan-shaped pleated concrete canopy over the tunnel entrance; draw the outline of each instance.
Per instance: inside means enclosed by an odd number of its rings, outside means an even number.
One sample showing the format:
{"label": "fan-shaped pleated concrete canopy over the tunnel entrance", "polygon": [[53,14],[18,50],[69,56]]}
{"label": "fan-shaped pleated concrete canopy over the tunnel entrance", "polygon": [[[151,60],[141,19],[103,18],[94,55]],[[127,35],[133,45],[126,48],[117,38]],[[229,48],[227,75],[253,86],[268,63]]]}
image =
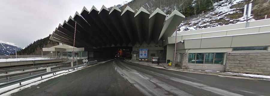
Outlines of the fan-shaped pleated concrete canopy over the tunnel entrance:
{"label": "fan-shaped pleated concrete canopy over the tunnel entrance", "polygon": [[[135,14],[126,7],[120,10],[114,6],[108,10],[104,5],[98,11],[94,6],[90,11],[83,7],[53,31],[50,40],[73,46],[76,30],[75,47],[102,48],[128,46],[136,43],[158,43],[171,36],[185,16],[177,10],[166,19],[166,14],[157,8],[150,14],[143,7]],[[75,29],[76,23],[76,29]]]}

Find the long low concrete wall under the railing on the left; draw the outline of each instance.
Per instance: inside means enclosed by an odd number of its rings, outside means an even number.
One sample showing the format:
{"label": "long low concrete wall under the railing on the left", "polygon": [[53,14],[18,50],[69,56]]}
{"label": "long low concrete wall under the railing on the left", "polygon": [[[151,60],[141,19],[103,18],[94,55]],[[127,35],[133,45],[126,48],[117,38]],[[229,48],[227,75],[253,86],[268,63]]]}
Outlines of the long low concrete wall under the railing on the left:
{"label": "long low concrete wall under the railing on the left", "polygon": [[1,62],[0,67],[17,66],[17,65],[33,65],[33,64],[41,64],[41,63],[63,62],[63,61],[64,61],[63,59],[53,59],[53,60]]}

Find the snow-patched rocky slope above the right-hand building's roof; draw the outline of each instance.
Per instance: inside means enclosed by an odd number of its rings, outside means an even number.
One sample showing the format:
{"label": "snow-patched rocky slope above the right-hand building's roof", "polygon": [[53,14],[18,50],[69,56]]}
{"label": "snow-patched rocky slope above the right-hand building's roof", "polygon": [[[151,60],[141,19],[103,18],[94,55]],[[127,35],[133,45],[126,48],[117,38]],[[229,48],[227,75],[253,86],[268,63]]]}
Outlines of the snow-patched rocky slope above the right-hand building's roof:
{"label": "snow-patched rocky slope above the right-hand building's roof", "polygon": [[[178,31],[189,31],[202,28],[216,27],[235,23],[245,22],[243,17],[244,7],[235,7],[247,0],[222,0],[214,3],[214,10],[198,14],[194,17],[187,17],[178,27]],[[254,21],[253,14],[248,19]]]}

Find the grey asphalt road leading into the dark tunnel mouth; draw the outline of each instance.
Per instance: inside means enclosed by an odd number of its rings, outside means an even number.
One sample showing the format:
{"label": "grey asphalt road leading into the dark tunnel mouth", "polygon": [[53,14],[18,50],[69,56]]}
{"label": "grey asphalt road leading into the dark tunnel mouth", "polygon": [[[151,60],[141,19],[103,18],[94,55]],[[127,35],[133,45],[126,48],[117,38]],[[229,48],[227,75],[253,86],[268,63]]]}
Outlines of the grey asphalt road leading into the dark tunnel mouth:
{"label": "grey asphalt road leading into the dark tunnel mouth", "polygon": [[12,96],[270,96],[269,89],[270,81],[265,80],[171,71],[114,60]]}

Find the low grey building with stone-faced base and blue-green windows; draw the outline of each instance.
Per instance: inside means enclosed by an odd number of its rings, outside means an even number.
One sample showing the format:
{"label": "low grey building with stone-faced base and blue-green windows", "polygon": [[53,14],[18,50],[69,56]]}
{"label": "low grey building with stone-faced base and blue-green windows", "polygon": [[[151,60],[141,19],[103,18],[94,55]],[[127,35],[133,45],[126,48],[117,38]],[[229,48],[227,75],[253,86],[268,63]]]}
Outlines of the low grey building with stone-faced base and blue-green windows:
{"label": "low grey building with stone-faced base and blue-green windows", "polygon": [[[270,73],[270,19],[184,31],[177,35],[176,65],[183,69]],[[175,36],[163,42],[173,60]]]}

